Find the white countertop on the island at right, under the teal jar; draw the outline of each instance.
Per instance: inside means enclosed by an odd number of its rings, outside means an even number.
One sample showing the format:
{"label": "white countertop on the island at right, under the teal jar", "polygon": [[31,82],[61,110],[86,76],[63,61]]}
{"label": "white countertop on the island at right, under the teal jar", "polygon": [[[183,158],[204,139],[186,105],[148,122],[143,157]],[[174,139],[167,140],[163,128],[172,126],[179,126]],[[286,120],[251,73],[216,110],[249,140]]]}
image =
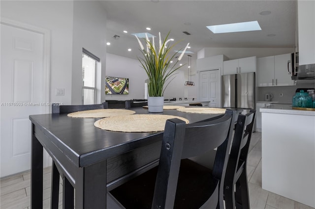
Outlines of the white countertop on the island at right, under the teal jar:
{"label": "white countertop on the island at right, under the teal jar", "polygon": [[292,109],[292,105],[288,104],[271,104],[260,108],[260,112],[315,116],[315,111]]}

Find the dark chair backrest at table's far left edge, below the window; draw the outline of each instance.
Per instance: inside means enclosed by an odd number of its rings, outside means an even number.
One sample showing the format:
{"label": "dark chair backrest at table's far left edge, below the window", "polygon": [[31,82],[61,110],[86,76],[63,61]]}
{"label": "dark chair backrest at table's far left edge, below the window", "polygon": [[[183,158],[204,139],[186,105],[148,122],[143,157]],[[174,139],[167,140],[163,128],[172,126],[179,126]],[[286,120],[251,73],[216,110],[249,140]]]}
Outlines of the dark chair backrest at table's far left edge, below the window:
{"label": "dark chair backrest at table's far left edge, below the window", "polygon": [[52,105],[52,113],[70,113],[91,109],[106,109],[107,103],[81,105]]}

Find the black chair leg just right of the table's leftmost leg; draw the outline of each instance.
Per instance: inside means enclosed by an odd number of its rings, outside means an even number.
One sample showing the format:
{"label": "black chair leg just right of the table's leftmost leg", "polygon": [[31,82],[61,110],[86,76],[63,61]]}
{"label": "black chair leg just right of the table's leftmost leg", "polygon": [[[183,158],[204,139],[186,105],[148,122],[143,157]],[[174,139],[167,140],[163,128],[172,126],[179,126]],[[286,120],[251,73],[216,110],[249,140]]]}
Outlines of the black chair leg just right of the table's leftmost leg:
{"label": "black chair leg just right of the table's leftmost leg", "polygon": [[59,203],[59,179],[60,174],[58,172],[58,169],[56,167],[56,164],[53,160],[52,165],[52,172],[51,172],[51,200],[50,200],[50,206],[51,209],[58,209],[58,203]]}

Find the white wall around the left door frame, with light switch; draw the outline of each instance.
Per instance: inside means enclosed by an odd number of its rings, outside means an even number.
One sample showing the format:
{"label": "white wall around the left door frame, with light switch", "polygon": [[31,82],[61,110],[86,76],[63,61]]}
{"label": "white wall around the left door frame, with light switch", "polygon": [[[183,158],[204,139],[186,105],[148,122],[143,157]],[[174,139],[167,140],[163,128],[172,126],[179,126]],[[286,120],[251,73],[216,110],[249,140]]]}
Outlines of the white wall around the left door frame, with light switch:
{"label": "white wall around the left door frame, with light switch", "polygon": [[[50,101],[71,104],[73,1],[3,1],[1,17],[51,31]],[[55,96],[63,88],[64,96]]]}

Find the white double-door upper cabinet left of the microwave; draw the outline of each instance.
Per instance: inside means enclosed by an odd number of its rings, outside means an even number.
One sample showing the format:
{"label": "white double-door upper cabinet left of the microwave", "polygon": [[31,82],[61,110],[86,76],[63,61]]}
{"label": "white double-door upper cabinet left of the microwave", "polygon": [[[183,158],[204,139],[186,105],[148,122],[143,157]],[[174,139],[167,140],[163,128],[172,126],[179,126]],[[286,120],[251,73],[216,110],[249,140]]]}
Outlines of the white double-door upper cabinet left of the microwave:
{"label": "white double-door upper cabinet left of the microwave", "polygon": [[290,60],[291,53],[258,58],[258,86],[294,85],[288,71]]}

